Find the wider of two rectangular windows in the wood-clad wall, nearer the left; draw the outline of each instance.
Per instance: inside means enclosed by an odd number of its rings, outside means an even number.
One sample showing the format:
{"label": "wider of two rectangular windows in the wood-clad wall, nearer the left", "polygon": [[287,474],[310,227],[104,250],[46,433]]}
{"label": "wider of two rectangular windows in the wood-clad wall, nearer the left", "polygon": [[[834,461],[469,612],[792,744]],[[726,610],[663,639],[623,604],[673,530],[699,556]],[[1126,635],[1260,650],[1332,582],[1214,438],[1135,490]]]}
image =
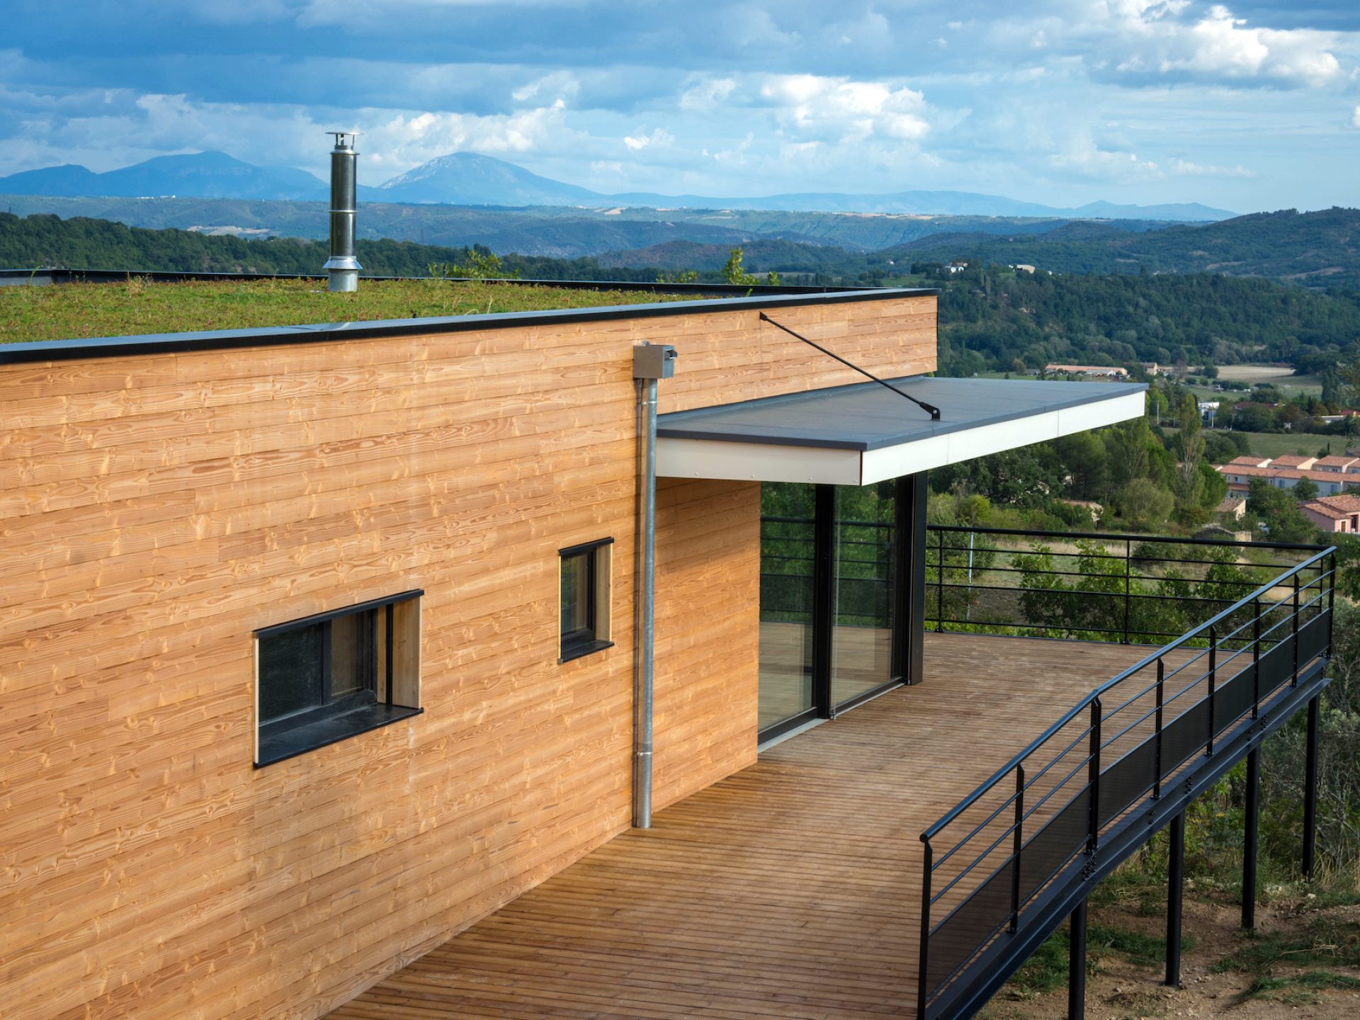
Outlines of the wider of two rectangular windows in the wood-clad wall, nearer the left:
{"label": "wider of two rectangular windows in the wood-clad wall, nearer the left", "polygon": [[256,631],[256,764],[420,713],[420,596]]}

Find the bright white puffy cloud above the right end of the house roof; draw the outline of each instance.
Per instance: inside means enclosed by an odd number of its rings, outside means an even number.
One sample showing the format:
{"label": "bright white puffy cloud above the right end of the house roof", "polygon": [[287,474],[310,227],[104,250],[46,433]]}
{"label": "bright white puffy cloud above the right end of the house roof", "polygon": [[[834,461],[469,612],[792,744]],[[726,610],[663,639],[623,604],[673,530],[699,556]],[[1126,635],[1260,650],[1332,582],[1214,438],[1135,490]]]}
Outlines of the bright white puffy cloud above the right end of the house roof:
{"label": "bright white puffy cloud above the right end of the house roof", "polygon": [[857,141],[880,136],[919,141],[930,131],[925,97],[883,82],[817,75],[770,75],[760,97],[798,135]]}

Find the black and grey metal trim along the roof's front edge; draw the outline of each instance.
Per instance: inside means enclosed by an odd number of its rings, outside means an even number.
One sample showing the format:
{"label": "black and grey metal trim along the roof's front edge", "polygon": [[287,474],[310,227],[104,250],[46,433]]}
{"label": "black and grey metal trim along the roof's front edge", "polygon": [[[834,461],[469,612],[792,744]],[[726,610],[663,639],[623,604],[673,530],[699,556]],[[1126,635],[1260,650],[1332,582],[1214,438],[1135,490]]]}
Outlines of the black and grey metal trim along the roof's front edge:
{"label": "black and grey metal trim along the roof's front edge", "polygon": [[[608,288],[605,288],[608,290]],[[745,292],[759,290],[738,287]],[[699,292],[706,292],[703,287]],[[711,292],[711,291],[709,291]],[[188,351],[227,351],[242,347],[276,347],[335,340],[371,340],[422,333],[461,333],[477,329],[545,326],[564,322],[597,322],[620,318],[654,318],[707,311],[748,311],[805,305],[849,305],[862,301],[891,301],[938,295],[934,287],[883,287],[873,290],[821,291],[812,294],[774,294],[711,301],[668,301],[647,305],[604,305],[589,309],[551,309],[543,311],[503,311],[490,316],[453,316],[430,318],[373,320],[364,322],[322,322],[261,329],[216,329],[189,333],[147,333],[141,336],[101,336],[79,340],[34,340],[0,344],[0,364],[26,362],[60,362],[84,358],[120,358],[144,354],[182,354]]]}

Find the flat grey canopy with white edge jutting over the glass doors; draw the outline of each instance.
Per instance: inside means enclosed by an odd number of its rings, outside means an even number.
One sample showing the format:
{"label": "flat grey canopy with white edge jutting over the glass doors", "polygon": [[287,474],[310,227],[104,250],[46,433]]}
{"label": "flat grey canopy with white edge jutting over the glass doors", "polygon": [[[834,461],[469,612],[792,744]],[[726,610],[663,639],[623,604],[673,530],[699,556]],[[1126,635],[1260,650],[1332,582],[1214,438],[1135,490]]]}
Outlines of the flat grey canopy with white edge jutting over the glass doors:
{"label": "flat grey canopy with white edge jutting over the glass doors", "polygon": [[1146,389],[928,377],[892,384],[940,408],[940,420],[876,382],[680,411],[657,422],[657,473],[868,486],[1138,418]]}

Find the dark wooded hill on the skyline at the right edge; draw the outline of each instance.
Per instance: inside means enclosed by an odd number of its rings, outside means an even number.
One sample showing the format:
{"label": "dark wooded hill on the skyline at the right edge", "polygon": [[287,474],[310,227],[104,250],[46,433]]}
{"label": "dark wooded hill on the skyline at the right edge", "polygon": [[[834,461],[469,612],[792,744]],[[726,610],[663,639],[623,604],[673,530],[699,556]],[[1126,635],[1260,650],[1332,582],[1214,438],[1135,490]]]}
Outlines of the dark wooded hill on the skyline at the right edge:
{"label": "dark wooded hill on the skyline at the right edge", "polygon": [[899,261],[978,258],[1053,272],[1213,272],[1308,287],[1360,286],[1360,209],[1261,212],[1132,233],[1068,223],[1043,235],[936,234],[879,253]]}

